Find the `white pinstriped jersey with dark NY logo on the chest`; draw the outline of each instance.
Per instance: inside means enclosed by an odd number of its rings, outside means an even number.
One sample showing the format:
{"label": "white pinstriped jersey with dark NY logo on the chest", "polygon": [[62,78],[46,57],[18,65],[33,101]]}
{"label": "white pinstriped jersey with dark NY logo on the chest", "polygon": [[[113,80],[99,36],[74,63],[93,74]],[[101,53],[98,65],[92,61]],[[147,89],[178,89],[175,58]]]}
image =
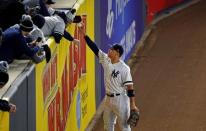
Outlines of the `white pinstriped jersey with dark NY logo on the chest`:
{"label": "white pinstriped jersey with dark NY logo on the chest", "polygon": [[118,63],[111,63],[107,54],[99,50],[99,62],[104,68],[104,83],[107,93],[123,93],[126,85],[133,84],[130,68],[120,60]]}

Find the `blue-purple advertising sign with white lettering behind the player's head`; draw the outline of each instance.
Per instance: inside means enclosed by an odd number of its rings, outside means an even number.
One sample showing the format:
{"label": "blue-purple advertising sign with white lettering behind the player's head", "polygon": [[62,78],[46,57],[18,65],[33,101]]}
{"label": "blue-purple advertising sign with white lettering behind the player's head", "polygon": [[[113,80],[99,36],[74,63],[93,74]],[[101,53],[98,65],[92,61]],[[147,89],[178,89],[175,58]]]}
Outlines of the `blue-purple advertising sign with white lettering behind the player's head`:
{"label": "blue-purple advertising sign with white lettering behind the player's head", "polygon": [[142,0],[101,0],[101,48],[104,51],[115,43],[125,50],[127,60],[144,30]]}

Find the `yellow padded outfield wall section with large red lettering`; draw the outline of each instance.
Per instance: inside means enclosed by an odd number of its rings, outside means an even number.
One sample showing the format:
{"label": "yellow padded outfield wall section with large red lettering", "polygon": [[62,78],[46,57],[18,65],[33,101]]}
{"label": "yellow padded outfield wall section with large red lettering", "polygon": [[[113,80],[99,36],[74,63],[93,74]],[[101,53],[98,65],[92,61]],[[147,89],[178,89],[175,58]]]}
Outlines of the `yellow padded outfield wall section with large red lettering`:
{"label": "yellow padded outfield wall section with large red lettering", "polygon": [[[94,39],[94,2],[77,3],[84,30]],[[52,59],[36,66],[36,127],[38,131],[84,131],[95,108],[94,55],[76,25],[68,31],[80,39],[75,45],[49,39]]]}

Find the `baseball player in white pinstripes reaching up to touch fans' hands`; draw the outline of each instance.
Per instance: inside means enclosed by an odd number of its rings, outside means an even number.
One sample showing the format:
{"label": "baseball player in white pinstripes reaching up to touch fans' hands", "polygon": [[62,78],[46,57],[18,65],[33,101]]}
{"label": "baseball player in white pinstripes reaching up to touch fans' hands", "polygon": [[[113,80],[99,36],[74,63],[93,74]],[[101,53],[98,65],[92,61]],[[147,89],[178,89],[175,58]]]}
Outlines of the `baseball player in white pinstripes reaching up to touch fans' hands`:
{"label": "baseball player in white pinstripes reaching up to touch fans' hands", "polygon": [[[84,32],[82,33],[84,34]],[[131,131],[128,124],[130,110],[139,112],[139,109],[135,105],[135,93],[130,68],[120,60],[124,50],[121,45],[115,44],[106,54],[87,35],[84,34],[84,36],[87,45],[99,58],[99,62],[104,69],[106,88],[103,112],[104,129],[106,131],[114,131],[114,125],[118,117],[117,120],[121,130]]]}

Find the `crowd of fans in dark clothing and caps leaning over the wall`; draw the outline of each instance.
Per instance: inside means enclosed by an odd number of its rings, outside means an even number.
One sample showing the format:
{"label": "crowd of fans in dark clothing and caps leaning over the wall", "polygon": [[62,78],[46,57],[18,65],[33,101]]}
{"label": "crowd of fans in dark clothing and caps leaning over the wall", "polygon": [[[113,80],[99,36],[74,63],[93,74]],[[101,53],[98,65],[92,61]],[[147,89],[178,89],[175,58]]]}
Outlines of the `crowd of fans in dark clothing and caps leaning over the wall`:
{"label": "crowd of fans in dark clothing and caps leaning over the wall", "polygon": [[[1,4],[4,3],[4,4]],[[2,0],[0,2],[0,88],[8,82],[9,64],[15,59],[30,59],[48,63],[51,51],[46,38],[54,37],[57,44],[62,37],[76,44],[79,40],[66,31],[71,23],[81,22],[75,9],[55,10],[52,0]],[[0,99],[0,110],[15,112],[16,106]]]}

